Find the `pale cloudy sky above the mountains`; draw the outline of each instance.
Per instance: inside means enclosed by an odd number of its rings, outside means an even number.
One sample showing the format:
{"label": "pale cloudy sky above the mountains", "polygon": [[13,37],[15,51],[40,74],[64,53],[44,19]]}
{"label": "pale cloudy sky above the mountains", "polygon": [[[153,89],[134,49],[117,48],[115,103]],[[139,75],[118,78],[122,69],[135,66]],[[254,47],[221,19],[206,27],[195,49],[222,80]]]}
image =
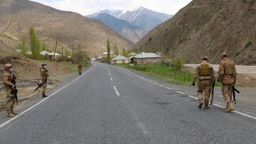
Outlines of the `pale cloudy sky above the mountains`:
{"label": "pale cloudy sky above the mountains", "polygon": [[144,7],[156,12],[174,15],[192,0],[30,0],[50,7],[90,15],[105,9],[123,11]]}

